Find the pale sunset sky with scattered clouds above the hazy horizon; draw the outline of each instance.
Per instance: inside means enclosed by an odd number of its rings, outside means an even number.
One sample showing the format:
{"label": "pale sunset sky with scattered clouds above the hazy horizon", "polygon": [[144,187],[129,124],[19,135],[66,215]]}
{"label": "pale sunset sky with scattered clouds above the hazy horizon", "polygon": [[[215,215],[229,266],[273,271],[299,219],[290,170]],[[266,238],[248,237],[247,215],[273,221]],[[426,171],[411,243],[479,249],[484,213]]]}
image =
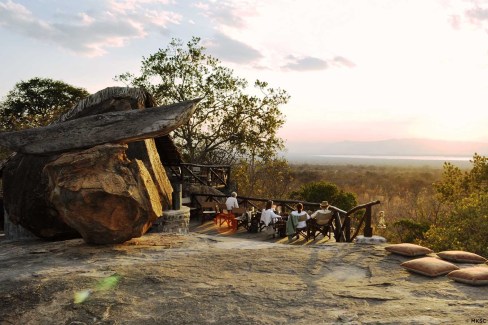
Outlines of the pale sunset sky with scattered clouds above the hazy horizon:
{"label": "pale sunset sky with scattered clouds above the hazy horizon", "polygon": [[289,93],[287,146],[488,142],[488,1],[0,0],[0,97],[33,77],[124,86],[113,78],[192,36]]}

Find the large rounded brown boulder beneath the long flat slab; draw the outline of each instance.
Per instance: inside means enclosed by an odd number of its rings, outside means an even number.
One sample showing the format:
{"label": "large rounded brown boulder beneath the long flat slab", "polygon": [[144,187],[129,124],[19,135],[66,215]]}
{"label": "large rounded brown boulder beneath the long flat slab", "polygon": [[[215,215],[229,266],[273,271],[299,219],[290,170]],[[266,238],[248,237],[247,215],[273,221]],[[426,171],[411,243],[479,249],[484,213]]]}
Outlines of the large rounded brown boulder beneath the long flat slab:
{"label": "large rounded brown boulder beneath the long flat slab", "polygon": [[122,243],[140,237],[163,209],[145,165],[130,161],[126,145],[66,153],[48,163],[47,194],[59,217],[87,243]]}

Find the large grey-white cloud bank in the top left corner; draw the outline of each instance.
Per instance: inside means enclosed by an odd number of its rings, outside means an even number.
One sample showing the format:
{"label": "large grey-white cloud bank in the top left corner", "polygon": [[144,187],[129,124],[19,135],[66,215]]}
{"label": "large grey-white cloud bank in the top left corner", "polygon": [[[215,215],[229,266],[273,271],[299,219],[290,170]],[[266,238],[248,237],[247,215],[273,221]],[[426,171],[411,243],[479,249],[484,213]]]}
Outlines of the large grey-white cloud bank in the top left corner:
{"label": "large grey-white cloud bank in the top left corner", "polygon": [[169,0],[97,2],[87,12],[57,13],[41,19],[27,7],[11,0],[0,2],[0,28],[55,44],[83,56],[101,56],[109,48],[122,47],[144,38],[151,30],[178,24],[181,16],[162,10]]}

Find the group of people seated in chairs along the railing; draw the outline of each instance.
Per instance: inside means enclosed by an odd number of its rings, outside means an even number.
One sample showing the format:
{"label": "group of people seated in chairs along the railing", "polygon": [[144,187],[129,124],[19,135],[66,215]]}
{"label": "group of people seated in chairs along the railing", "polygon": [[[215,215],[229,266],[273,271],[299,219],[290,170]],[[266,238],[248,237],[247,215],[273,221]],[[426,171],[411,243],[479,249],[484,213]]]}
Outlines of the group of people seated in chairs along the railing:
{"label": "group of people seated in chairs along the railing", "polygon": [[[231,196],[227,198],[225,202],[227,210],[232,211],[234,208],[239,208],[239,203],[237,202],[237,193],[232,192]],[[320,203],[320,209],[309,215],[303,210],[303,204],[297,203],[295,210],[292,211],[286,220],[286,235],[291,240],[294,235],[297,234],[297,229],[303,229],[307,227],[307,220],[310,218],[315,218],[318,214],[330,213],[328,210],[329,203],[327,201],[322,201]],[[303,216],[306,216],[305,218]],[[274,209],[274,204],[272,200],[266,202],[265,208],[261,211],[260,222],[264,227],[269,227],[271,231],[275,224],[279,221],[283,221],[283,217],[276,213]]]}

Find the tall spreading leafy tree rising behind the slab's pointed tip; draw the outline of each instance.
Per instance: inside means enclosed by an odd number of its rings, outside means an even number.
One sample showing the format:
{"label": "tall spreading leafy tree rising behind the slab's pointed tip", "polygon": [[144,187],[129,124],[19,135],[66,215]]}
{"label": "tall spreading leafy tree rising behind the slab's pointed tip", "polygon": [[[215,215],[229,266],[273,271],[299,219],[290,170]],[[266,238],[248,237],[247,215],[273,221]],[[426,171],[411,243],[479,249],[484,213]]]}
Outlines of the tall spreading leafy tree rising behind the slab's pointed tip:
{"label": "tall spreading leafy tree rising behind the slab's pointed tip", "polygon": [[240,157],[269,159],[283,148],[277,130],[288,102],[284,90],[256,80],[250,95],[247,81],[233,75],[193,37],[183,46],[173,39],[166,49],[143,58],[140,76],[115,77],[149,91],[159,104],[202,98],[188,124],[173,132],[183,157],[194,163],[230,164]]}

